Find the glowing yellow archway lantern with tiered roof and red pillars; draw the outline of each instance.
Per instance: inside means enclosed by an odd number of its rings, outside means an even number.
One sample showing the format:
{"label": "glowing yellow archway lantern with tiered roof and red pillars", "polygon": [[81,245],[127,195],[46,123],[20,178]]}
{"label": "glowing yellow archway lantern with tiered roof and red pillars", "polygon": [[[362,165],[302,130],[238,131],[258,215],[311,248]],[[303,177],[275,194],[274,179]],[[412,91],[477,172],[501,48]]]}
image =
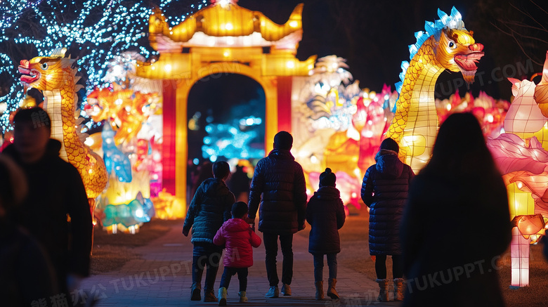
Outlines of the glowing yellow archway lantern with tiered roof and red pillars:
{"label": "glowing yellow archway lantern with tiered roof and red pillars", "polygon": [[291,131],[292,77],[308,76],[315,55],[298,60],[303,4],[278,25],[263,13],[249,11],[234,0],[211,5],[170,27],[159,10],[150,15],[149,40],[159,60],[139,63],[138,77],[163,79],[163,184],[179,200],[186,199],[187,98],[205,77],[243,74],[257,81],[266,96],[266,152],[275,133]]}

